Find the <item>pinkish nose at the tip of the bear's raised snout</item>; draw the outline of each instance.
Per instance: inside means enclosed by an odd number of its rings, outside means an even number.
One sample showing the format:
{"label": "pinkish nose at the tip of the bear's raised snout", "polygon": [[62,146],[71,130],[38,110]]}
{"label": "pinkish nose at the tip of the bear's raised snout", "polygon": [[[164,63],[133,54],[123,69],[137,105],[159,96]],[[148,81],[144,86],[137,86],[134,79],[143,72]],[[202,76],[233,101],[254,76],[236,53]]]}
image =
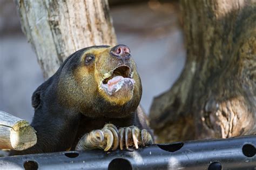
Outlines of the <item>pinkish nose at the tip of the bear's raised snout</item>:
{"label": "pinkish nose at the tip of the bear's raised snout", "polygon": [[126,45],[116,45],[110,50],[112,56],[122,59],[129,59],[131,57],[130,49]]}

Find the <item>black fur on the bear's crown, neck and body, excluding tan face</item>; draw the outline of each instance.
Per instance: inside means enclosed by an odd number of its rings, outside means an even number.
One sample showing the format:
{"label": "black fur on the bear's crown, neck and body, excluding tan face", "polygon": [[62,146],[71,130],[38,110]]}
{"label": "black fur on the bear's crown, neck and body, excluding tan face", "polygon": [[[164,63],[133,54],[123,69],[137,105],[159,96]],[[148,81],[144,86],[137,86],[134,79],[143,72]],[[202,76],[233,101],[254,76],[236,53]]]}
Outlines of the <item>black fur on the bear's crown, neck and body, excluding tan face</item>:
{"label": "black fur on the bear's crown, neck and body, excluding tan face", "polygon": [[[100,48],[109,46],[92,46],[79,50],[70,55],[58,71],[39,86],[32,96],[32,106],[35,108],[35,115],[31,126],[35,128],[37,134],[37,144],[24,151],[12,151],[11,155],[46,153],[66,151],[74,148],[82,135],[92,130],[101,129],[106,123],[112,123],[117,127],[136,125],[139,128],[142,124],[138,120],[137,106],[128,103],[122,107],[113,107],[102,98],[95,99],[95,112],[104,114],[100,117],[86,117],[77,108],[66,108],[58,103],[57,85],[60,80],[60,73],[69,76],[72,68],[76,68],[80,63],[80,57],[89,48]],[[111,118],[113,112],[125,112],[122,118]],[[88,113],[87,113],[88,114]],[[108,116],[110,115],[110,116]]]}

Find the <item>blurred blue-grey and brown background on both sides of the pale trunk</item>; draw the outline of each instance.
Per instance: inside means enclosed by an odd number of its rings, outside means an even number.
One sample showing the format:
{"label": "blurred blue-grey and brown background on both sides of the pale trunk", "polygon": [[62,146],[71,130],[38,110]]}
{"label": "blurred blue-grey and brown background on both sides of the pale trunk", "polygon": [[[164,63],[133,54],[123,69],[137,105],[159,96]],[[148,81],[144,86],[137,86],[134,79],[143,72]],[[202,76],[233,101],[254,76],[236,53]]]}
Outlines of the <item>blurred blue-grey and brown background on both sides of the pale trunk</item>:
{"label": "blurred blue-grey and brown background on both sides of the pale trunk", "polygon": [[[170,89],[185,64],[177,1],[110,0],[119,44],[130,47],[142,78],[141,104]],[[0,110],[31,122],[33,91],[43,83],[35,52],[23,35],[13,1],[0,1]]]}

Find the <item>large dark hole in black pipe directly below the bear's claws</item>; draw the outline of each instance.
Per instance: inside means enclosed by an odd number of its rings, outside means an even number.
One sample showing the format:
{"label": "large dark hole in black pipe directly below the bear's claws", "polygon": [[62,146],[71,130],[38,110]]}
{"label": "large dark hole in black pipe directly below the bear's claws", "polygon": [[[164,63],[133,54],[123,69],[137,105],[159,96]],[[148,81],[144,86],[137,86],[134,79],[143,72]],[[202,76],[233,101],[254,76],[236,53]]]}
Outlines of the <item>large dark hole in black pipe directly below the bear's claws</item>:
{"label": "large dark hole in black pipe directly below the bear's claws", "polygon": [[124,158],[113,159],[107,170],[132,170],[132,165],[129,160]]}

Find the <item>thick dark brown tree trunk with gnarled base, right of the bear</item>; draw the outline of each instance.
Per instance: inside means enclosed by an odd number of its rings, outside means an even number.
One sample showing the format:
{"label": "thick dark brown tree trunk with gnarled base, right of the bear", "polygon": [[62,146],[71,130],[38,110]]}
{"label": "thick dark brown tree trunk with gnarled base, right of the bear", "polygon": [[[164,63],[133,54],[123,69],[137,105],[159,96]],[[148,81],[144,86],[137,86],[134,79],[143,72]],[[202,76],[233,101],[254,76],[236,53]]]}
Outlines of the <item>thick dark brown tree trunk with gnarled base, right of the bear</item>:
{"label": "thick dark brown tree trunk with gnarled base, right of the bear", "polygon": [[180,3],[187,60],[151,106],[158,141],[255,134],[256,1]]}

